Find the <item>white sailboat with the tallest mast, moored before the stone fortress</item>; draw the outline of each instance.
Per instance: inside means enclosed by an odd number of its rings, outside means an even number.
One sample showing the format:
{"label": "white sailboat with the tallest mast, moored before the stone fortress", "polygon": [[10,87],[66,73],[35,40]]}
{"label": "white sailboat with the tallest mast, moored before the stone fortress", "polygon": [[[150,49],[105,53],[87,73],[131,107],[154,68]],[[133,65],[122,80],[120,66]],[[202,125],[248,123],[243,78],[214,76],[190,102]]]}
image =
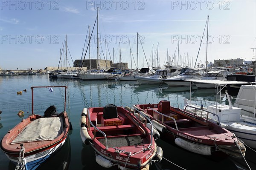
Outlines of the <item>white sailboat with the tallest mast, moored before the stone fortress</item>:
{"label": "white sailboat with the tallest mast, moored before the stone fortress", "polygon": [[[82,80],[106,80],[108,76],[111,76],[111,72],[113,72],[113,69],[109,69],[108,71],[101,71],[99,70],[99,7],[97,9],[97,72],[92,73],[79,73],[79,78]],[[89,42],[90,44],[90,42]]]}

